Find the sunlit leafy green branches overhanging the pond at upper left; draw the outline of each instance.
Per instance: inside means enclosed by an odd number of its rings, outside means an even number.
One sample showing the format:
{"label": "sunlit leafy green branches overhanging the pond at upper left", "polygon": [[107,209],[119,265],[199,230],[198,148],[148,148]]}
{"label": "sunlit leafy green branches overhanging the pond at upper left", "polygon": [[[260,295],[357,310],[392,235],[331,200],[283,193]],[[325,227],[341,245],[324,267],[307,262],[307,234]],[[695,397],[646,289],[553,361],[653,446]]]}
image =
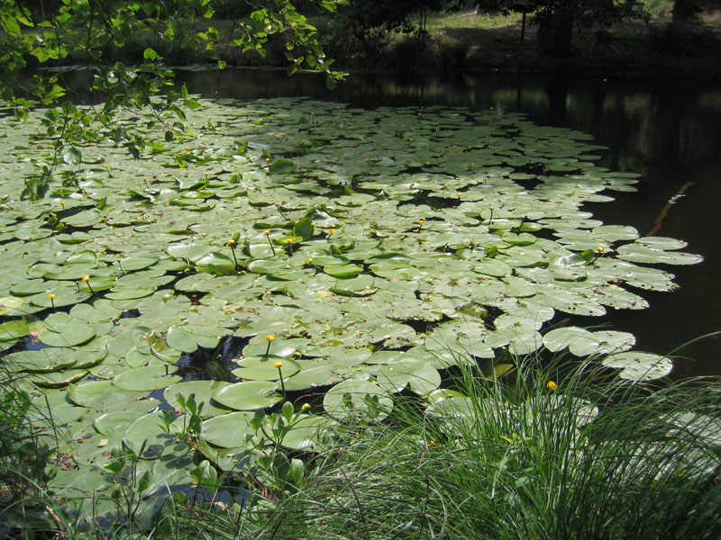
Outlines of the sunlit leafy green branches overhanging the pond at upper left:
{"label": "sunlit leafy green branches overhanging the pond at upper left", "polygon": [[[303,5],[334,13],[344,1],[306,0]],[[221,41],[220,32],[212,25],[214,5],[235,5],[236,14],[247,15],[229,40]],[[41,6],[38,10],[33,3],[32,10],[27,2],[0,0],[0,104],[18,118],[25,117],[28,108],[38,103],[50,107],[43,121],[44,131],[37,137],[54,141],[54,156],[37,175],[27,178],[25,197],[43,196],[64,148],[101,137],[100,130],[94,129],[96,124],[105,129],[103,137],[114,139],[139,157],[148,141],[137,130],[113,124],[112,112],[118,108],[150,109],[153,121],[166,127],[166,139],[185,129],[184,110],[198,106],[187,91],[170,91],[162,99],[154,97],[164,86],[173,84],[173,73],[158,52],[162,44],[204,48],[211,57],[225,48],[264,55],[269,39],[282,36],[289,73],[309,67],[324,74],[329,87],[344,75],[331,68],[333,61],[325,58],[315,26],[289,0],[57,0]],[[143,51],[139,65],[107,62],[109,50],[123,48],[139,33],[151,35],[155,42]],[[102,106],[79,109],[66,99],[68,89],[58,76],[48,71],[35,70],[31,76],[26,73],[27,67],[52,66],[70,58],[92,67],[89,89],[104,95]],[[224,62],[219,59],[218,65],[224,67]]]}

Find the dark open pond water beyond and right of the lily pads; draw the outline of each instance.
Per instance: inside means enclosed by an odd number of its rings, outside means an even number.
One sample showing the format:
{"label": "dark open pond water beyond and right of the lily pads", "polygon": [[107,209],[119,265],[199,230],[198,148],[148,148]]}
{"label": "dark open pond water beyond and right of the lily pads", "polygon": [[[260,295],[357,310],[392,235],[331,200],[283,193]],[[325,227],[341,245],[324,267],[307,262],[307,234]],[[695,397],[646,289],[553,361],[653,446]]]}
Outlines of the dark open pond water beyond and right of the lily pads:
{"label": "dark open pond water beyond and right of the lily pads", "polygon": [[[704,335],[721,332],[721,85],[698,81],[566,80],[543,76],[478,75],[455,78],[351,75],[331,92],[319,76],[229,69],[178,71],[191,93],[256,99],[309,96],[374,108],[380,105],[452,105],[474,110],[525,112],[539,125],[564,126],[593,135],[597,162],[642,175],[638,193],[613,193],[616,202],[589,204],[606,224],[633,225],[642,235],[689,242],[705,257],[695,266],[670,266],[680,289],[641,291],[651,307],[609,310],[607,323],[633,332],[638,350],[668,354]],[[672,202],[670,202],[672,201]],[[660,221],[657,221],[660,220]],[[662,267],[662,266],[658,266]],[[721,375],[721,335],[674,353],[674,374]]]}

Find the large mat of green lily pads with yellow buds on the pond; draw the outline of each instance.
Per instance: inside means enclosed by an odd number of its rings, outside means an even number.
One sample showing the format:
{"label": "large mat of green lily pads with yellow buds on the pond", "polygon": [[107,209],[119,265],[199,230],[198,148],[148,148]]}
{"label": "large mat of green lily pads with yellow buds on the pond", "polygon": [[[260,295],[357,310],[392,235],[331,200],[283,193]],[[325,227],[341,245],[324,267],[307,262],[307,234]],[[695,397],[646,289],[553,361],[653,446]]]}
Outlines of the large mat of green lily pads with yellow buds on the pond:
{"label": "large mat of green lily pads with yellow buds on the pond", "polygon": [[[39,202],[16,193],[53,141],[28,142],[39,115],[2,121],[2,362],[32,385],[38,421],[64,427],[53,489],[107,487],[90,471],[123,437],[148,441],[144,495],[189,482],[200,454],[237,471],[254,411],[288,392],[324,392],[330,420],[284,439],[312,449],[318,426],[382,419],[394,393],[443,400],[451,365],[503,374],[506,352],[603,355],[635,382],[670,372],[624,332],[542,333],[557,312],[643,309],[638,289],[675,287],[646,265],[701,260],[584,210],[635,183],[595,166],[588,136],[492,111],[202,103],[184,138],[139,160],[112,139],[66,148],[67,185]],[[163,140],[150,118],[117,121]],[[233,344],[231,366],[179,369]],[[200,448],[160,428],[191,394]]]}

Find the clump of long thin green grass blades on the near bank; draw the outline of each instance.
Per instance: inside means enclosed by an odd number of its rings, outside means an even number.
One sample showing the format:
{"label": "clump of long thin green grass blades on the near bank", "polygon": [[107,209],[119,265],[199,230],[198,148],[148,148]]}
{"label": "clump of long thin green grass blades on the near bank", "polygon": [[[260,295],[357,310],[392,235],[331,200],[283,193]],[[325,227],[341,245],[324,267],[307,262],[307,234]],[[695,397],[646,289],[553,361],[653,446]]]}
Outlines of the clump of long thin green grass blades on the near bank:
{"label": "clump of long thin green grass blades on the near bank", "polygon": [[[550,382],[530,362],[321,456],[273,537],[716,538],[721,386],[651,392],[593,364]],[[400,424],[400,427],[398,426]]]}

